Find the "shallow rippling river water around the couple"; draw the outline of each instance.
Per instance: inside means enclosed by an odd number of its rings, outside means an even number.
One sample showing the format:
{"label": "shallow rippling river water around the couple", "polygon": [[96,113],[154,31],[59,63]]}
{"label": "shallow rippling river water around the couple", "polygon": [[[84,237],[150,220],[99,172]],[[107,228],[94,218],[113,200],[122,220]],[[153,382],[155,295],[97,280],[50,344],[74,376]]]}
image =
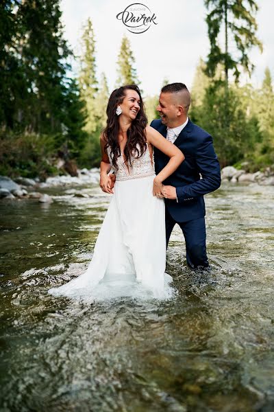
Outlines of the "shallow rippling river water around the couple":
{"label": "shallow rippling river water around the couple", "polygon": [[175,227],[173,299],[95,304],[47,290],[85,270],[110,198],[45,192],[0,203],[1,412],[274,410],[274,187],[206,196],[208,273]]}

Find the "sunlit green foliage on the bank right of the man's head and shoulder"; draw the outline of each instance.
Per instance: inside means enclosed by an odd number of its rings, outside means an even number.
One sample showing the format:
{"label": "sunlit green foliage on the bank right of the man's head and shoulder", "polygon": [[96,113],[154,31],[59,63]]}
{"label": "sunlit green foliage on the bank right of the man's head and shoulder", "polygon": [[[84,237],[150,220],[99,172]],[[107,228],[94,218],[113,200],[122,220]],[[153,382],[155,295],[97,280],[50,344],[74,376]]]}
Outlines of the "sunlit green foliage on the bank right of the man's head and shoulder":
{"label": "sunlit green foliage on the bank right of the man's head and shoulder", "polygon": [[227,89],[218,76],[210,82],[200,62],[192,87],[192,121],[212,135],[222,166],[249,172],[274,168],[274,94],[269,69],[260,89],[233,83]]}

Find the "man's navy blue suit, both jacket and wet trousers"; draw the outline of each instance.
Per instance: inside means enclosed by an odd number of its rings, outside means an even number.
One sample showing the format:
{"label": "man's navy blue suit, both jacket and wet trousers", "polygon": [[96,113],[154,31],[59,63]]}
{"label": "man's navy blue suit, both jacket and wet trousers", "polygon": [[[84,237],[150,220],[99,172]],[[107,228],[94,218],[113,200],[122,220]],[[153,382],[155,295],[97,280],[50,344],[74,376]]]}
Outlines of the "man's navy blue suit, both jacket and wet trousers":
{"label": "man's navy blue suit, both jacket and wet trousers", "polygon": [[[160,119],[151,126],[166,137],[166,126]],[[212,137],[202,128],[190,122],[174,142],[184,153],[185,160],[169,176],[164,185],[176,187],[177,199],[165,199],[166,244],[176,223],[181,227],[186,240],[186,260],[191,268],[208,266],[206,255],[206,215],[203,195],[213,192],[221,185],[219,161],[213,148]],[[154,148],[155,173],[158,174],[169,162],[169,157]],[[200,179],[200,174],[203,179]]]}

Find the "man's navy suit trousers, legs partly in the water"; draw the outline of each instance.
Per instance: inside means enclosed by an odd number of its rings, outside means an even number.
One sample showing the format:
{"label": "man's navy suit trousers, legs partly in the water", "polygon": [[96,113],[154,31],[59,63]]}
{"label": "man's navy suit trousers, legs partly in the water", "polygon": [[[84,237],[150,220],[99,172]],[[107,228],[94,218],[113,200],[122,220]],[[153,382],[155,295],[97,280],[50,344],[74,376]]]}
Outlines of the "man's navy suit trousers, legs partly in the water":
{"label": "man's navy suit trousers, legs partly in the water", "polygon": [[186,242],[186,262],[188,266],[192,269],[207,268],[209,264],[206,255],[205,218],[189,220],[188,222],[176,222],[166,208],[166,248],[176,223],[184,234]]}

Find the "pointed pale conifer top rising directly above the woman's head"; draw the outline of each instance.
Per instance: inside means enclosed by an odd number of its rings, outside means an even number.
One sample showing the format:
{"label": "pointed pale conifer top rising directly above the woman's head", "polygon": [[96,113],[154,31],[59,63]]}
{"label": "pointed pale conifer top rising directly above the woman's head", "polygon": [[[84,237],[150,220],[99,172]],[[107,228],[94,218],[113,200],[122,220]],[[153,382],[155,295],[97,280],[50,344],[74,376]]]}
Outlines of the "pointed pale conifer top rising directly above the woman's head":
{"label": "pointed pale conifer top rising directly above the woman's head", "polygon": [[122,39],[117,63],[118,79],[116,82],[116,86],[121,87],[124,84],[139,85],[136,69],[134,67],[135,58],[130,47],[129,39],[126,36],[124,36]]}

